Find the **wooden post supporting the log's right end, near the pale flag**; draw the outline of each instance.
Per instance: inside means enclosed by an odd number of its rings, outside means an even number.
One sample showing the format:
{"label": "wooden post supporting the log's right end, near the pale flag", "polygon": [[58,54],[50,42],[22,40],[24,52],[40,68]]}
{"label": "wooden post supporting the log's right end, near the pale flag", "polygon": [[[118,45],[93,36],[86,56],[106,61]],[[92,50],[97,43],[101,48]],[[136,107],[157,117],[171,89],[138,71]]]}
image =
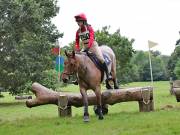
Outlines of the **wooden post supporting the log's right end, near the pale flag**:
{"label": "wooden post supporting the log's right end, near the pale flag", "polygon": [[144,88],[141,89],[141,95],[142,95],[142,100],[138,101],[139,103],[139,111],[140,112],[149,112],[154,110],[154,101],[153,98],[151,99],[151,94],[153,94],[150,90],[150,88],[145,88],[148,90],[143,90]]}

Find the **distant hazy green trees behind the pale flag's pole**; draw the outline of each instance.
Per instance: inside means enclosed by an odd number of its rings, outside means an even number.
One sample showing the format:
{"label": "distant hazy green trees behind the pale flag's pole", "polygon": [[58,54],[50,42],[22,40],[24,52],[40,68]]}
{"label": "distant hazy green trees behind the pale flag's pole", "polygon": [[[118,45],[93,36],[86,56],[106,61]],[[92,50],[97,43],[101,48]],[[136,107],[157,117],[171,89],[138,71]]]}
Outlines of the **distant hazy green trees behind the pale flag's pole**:
{"label": "distant hazy green trees behind the pale flag's pole", "polygon": [[[152,71],[154,80],[167,80],[167,56],[160,55],[160,52],[151,51],[151,62],[152,62]],[[136,51],[131,59],[131,64],[133,65],[133,70],[136,68],[139,78],[136,78],[133,81],[150,81],[150,65],[149,65],[149,53],[143,51]],[[134,72],[135,74],[135,72]]]}

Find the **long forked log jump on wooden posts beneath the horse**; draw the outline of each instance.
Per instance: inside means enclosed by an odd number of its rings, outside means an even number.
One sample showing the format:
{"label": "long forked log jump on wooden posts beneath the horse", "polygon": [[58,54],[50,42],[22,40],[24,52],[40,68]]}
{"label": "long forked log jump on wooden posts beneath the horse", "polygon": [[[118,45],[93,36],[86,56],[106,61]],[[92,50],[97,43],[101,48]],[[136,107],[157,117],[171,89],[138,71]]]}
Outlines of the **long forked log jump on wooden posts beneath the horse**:
{"label": "long forked log jump on wooden posts beneath the horse", "polygon": [[[80,93],[56,92],[50,90],[39,83],[33,83],[32,92],[35,99],[26,101],[26,106],[31,108],[45,104],[55,104],[59,110],[64,111],[62,115],[71,115],[71,106],[83,106],[83,100]],[[136,87],[118,90],[106,90],[102,92],[102,104],[113,105],[120,102],[138,101],[139,111],[149,112],[154,110],[153,88]],[[96,96],[94,93],[88,93],[89,105],[96,105]]]}

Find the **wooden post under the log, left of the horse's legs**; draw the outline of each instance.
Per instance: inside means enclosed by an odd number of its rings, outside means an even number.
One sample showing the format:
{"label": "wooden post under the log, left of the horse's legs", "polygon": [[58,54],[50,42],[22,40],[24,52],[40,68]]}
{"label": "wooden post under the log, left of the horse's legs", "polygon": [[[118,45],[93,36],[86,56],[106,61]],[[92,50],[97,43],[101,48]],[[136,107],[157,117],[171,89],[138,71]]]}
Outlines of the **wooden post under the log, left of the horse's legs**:
{"label": "wooden post under the log, left of the horse's legs", "polygon": [[68,106],[68,97],[60,95],[58,98],[58,116],[72,116],[71,106]]}

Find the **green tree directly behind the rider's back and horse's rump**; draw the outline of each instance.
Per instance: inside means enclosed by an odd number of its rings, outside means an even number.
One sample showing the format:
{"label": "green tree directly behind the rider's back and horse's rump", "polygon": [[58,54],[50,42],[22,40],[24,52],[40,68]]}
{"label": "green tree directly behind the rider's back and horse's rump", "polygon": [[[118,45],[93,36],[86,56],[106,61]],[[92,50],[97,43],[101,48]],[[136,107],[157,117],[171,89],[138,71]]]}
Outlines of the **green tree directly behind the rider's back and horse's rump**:
{"label": "green tree directly behind the rider's back and horse's rump", "polygon": [[117,77],[121,82],[129,82],[131,80],[129,62],[134,52],[132,48],[134,39],[129,40],[121,36],[119,29],[111,34],[109,29],[110,26],[106,26],[96,31],[96,40],[99,45],[108,45],[113,49],[117,59]]}

